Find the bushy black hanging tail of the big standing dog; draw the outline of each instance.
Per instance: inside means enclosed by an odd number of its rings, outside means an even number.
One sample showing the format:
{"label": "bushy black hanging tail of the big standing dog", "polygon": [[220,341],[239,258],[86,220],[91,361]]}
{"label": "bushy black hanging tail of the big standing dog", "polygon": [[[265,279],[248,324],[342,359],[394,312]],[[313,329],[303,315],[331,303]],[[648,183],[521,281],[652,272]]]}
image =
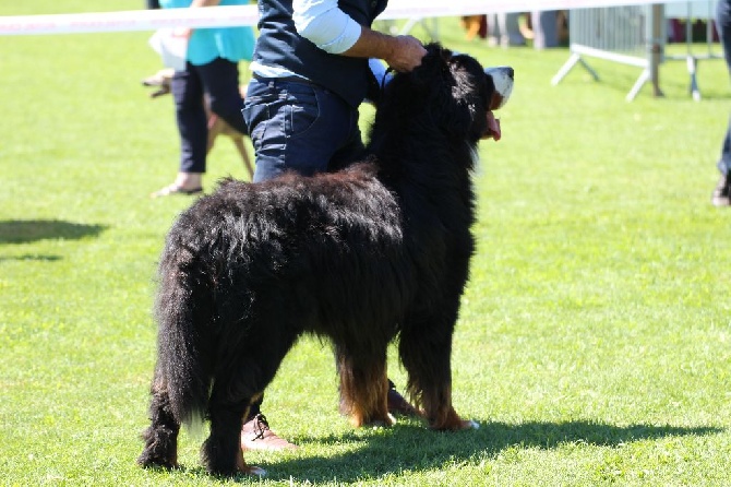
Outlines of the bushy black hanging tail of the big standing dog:
{"label": "bushy black hanging tail of the big standing dog", "polygon": [[157,359],[175,418],[195,430],[208,404],[212,371],[206,363],[205,326],[209,323],[209,290],[196,272],[194,252],[166,246],[159,264],[155,305]]}

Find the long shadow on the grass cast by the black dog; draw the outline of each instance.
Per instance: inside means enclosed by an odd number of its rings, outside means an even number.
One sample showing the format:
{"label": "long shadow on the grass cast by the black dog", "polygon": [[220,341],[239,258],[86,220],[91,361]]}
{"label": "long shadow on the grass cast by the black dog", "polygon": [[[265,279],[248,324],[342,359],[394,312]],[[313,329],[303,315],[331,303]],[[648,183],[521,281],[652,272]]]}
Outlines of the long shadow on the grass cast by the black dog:
{"label": "long shadow on the grass cast by the black dog", "polygon": [[[698,436],[721,432],[721,428],[630,425],[613,426],[589,421],[568,423],[483,423],[479,430],[434,432],[416,424],[399,424],[379,432],[351,432],[332,438],[300,438],[308,443],[329,443],[334,448],[351,446],[352,451],[328,458],[285,458],[261,466],[267,479],[307,478],[311,483],[348,483],[375,479],[388,473],[444,468],[465,462],[479,463],[511,448],[554,449],[577,443],[618,447],[623,443],[673,436]],[[256,462],[251,462],[256,464]],[[345,467],[347,465],[347,467]]]}

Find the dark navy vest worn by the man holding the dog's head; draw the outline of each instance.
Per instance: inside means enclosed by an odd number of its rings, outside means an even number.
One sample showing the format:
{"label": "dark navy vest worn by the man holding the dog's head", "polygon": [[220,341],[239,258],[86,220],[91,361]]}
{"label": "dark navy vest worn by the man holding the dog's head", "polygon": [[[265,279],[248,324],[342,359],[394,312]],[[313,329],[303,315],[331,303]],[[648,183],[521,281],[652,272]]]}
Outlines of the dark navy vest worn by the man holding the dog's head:
{"label": "dark navy vest worn by the man holding the dog's head", "polygon": [[[370,27],[387,0],[339,0],[338,7],[360,25]],[[372,81],[368,59],[331,55],[300,36],[292,21],[291,0],[259,2],[259,33],[254,61],[305,76],[353,107],[366,97]]]}

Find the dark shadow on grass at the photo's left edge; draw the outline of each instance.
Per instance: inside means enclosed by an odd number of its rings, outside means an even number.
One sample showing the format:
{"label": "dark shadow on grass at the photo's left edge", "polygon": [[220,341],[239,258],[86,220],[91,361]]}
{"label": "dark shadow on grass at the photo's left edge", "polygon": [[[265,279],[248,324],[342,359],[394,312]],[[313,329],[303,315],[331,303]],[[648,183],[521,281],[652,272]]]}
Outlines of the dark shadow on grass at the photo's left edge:
{"label": "dark shadow on grass at the photo's left edge", "polygon": [[[85,225],[59,219],[9,219],[0,222],[0,243],[28,243],[47,239],[77,240],[96,237],[106,228],[104,225]],[[26,256],[26,258],[56,260],[43,256]]]}

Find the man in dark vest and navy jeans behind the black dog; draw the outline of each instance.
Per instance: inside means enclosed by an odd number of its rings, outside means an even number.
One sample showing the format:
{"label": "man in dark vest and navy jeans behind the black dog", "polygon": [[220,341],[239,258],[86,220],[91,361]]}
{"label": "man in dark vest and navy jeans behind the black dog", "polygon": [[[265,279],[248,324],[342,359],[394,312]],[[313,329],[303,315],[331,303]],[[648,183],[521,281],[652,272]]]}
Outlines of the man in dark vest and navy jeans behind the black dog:
{"label": "man in dark vest and navy jeans behind the black dog", "polygon": [[[286,170],[305,176],[334,170],[362,155],[358,106],[369,90],[378,90],[368,58],[411,71],[427,54],[415,37],[370,28],[386,4],[387,0],[259,0],[253,78],[242,110],[255,151],[254,182]],[[293,447],[269,429],[260,406],[261,400],[244,421],[242,448]],[[393,387],[388,409],[416,414]]]}

